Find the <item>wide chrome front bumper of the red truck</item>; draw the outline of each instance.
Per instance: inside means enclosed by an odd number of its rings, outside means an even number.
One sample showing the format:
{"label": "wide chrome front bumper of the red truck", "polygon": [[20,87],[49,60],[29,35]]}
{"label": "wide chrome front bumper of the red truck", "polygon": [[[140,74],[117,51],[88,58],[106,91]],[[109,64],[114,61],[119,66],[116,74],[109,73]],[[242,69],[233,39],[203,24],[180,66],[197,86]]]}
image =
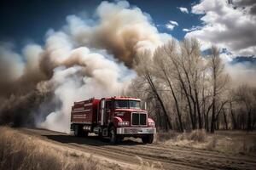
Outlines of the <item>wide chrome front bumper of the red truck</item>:
{"label": "wide chrome front bumper of the red truck", "polygon": [[117,127],[117,134],[154,134],[155,127]]}

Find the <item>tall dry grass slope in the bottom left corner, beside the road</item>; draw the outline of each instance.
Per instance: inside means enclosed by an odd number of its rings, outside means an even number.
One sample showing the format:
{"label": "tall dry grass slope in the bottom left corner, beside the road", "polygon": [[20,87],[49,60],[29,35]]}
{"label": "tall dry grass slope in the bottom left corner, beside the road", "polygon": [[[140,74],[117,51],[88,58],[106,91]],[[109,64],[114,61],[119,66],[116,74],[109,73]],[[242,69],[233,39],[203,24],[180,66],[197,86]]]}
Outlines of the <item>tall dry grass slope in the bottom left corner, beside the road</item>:
{"label": "tall dry grass slope in the bottom left corner, beside the road", "polygon": [[38,139],[0,127],[0,169],[102,169],[93,156],[61,150]]}

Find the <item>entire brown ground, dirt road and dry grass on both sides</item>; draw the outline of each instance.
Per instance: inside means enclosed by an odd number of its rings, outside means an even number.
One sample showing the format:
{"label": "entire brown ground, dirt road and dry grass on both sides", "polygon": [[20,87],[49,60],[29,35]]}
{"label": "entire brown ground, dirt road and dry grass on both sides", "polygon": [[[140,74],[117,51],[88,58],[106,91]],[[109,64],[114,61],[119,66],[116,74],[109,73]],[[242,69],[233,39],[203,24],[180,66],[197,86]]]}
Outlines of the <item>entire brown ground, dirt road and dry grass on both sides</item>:
{"label": "entire brown ground, dirt road and dry grass on both sides", "polygon": [[256,169],[256,135],[159,133],[110,145],[44,129],[0,127],[0,169]]}

